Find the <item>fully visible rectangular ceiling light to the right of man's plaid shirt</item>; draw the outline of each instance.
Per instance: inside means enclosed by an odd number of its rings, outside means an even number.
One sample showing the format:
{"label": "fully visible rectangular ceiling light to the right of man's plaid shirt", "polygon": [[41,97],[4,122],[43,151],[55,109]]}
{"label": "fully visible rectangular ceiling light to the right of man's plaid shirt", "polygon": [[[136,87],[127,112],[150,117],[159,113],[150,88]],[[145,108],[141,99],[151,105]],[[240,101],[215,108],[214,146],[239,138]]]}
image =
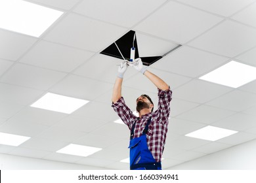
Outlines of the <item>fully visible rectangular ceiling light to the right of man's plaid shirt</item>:
{"label": "fully visible rectangular ceiling light to the right of man's plaid shirt", "polygon": [[208,125],[207,127],[203,127],[196,131],[193,131],[192,133],[188,133],[185,136],[203,139],[207,141],[217,141],[219,139],[223,139],[224,137],[233,135],[234,133],[238,133],[238,131]]}

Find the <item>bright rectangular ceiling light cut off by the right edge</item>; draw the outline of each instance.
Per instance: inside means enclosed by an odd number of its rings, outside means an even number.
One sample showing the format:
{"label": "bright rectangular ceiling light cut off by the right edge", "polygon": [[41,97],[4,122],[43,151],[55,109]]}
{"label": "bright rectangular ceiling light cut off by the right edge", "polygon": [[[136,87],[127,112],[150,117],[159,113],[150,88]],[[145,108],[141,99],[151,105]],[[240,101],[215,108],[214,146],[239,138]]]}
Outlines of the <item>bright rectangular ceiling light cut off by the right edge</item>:
{"label": "bright rectangular ceiling light cut off by the right edge", "polygon": [[200,77],[200,79],[238,88],[256,79],[256,67],[237,61],[230,61],[222,67]]}

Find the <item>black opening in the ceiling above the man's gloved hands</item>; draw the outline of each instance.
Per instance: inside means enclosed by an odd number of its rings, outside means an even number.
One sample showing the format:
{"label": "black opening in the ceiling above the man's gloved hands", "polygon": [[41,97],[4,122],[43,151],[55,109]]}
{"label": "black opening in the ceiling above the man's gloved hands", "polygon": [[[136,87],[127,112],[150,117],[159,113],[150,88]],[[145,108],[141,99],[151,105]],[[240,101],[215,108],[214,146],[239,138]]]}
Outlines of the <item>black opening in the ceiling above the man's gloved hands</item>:
{"label": "black opening in the ceiling above the man's gloved hands", "polygon": [[119,59],[131,59],[131,49],[135,48],[135,58],[141,58],[143,65],[149,66],[152,63],[155,63],[159,59],[163,58],[170,52],[173,52],[177,48],[179,48],[181,44],[164,54],[163,56],[150,56],[150,57],[140,57],[139,56],[139,48],[137,44],[137,38],[135,31],[129,31],[125,35],[123,35],[121,38],[117,39],[116,42],[112,43],[110,46],[108,46],[106,49],[104,49],[100,54],[104,54],[107,56],[112,56],[114,58]]}

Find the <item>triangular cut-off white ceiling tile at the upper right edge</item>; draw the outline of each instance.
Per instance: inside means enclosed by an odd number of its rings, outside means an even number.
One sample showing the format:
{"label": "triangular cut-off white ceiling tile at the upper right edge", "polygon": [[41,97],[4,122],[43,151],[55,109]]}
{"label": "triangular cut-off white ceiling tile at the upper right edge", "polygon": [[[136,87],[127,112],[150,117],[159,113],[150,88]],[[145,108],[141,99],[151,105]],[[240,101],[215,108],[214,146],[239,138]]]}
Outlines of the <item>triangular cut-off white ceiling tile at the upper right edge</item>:
{"label": "triangular cut-off white ceiling tile at the upper right edge", "polygon": [[245,8],[244,10],[238,12],[234,16],[232,16],[232,19],[238,20],[239,22],[242,22],[244,24],[252,25],[253,27],[256,27],[255,22],[255,16],[256,16],[256,3],[253,3],[253,5]]}

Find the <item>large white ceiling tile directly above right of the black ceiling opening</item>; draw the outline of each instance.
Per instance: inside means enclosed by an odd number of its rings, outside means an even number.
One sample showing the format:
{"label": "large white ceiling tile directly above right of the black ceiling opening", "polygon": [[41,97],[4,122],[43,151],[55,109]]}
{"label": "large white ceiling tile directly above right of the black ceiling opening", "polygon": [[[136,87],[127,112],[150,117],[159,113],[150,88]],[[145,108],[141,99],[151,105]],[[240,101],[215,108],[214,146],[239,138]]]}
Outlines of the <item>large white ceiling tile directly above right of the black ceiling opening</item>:
{"label": "large white ceiling tile directly above right of the black ceiling opening", "polygon": [[135,27],[140,31],[177,42],[188,42],[222,18],[169,1]]}

